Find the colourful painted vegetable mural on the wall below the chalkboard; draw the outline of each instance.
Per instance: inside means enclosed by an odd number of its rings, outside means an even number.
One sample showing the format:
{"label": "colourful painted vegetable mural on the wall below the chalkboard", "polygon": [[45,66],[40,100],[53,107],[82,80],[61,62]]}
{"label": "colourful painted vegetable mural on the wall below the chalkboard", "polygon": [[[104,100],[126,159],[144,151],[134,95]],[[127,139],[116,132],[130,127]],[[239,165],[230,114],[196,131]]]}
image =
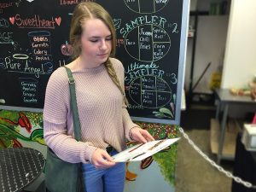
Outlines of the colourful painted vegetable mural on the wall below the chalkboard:
{"label": "colourful painted vegetable mural on the wall below the chalkboard", "polygon": [[[136,122],[148,130],[155,139],[175,138],[179,136],[177,125],[149,124]],[[0,109],[0,148],[20,148],[23,143],[38,143],[46,148],[44,142],[43,113],[9,111]],[[134,143],[127,142],[127,146]],[[175,186],[175,170],[177,164],[177,143],[139,162],[126,163],[126,186],[141,180],[143,172],[158,166],[160,174],[172,187]],[[150,167],[151,166],[151,167]],[[140,181],[141,183],[141,181]],[[126,190],[127,190],[126,189]],[[131,191],[131,190],[127,190]]]}

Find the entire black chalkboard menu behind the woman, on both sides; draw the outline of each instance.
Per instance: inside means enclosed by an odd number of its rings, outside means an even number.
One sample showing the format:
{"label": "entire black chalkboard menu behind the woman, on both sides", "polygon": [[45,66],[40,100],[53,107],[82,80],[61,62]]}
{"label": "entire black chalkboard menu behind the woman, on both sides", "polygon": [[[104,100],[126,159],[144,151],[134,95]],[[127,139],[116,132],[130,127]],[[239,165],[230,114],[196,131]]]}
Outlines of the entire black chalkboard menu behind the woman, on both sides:
{"label": "entire black chalkboard menu behind the woman, on both sides", "polygon": [[[3,2],[3,3],[2,3]],[[42,111],[50,74],[67,55],[78,0],[0,3],[0,108]],[[94,0],[113,17],[132,119],[178,124],[188,0]]]}

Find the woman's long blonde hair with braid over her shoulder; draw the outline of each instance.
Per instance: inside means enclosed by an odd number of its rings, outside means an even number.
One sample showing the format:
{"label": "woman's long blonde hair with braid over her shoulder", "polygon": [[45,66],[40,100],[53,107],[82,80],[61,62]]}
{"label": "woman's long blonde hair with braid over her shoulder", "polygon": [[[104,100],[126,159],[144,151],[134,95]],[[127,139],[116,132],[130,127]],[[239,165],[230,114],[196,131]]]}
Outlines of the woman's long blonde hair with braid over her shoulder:
{"label": "woman's long blonde hair with braid over her shoulder", "polygon": [[[81,55],[81,35],[83,32],[83,23],[84,20],[87,19],[99,19],[108,26],[109,31],[112,35],[112,49],[110,52],[110,56],[115,55],[115,47],[116,47],[116,33],[113,25],[113,20],[111,16],[108,14],[108,11],[102,8],[102,6],[98,3],[93,2],[82,2],[79,3],[73,11],[73,17],[71,20],[71,27],[69,33],[70,44],[73,47],[73,59],[76,59]],[[105,62],[105,66],[107,68],[109,77],[113,80],[113,83],[119,88],[121,93],[124,96],[125,104],[128,105],[128,101],[125,97],[125,90],[121,86],[119,79],[115,73],[112,62],[108,60]]]}

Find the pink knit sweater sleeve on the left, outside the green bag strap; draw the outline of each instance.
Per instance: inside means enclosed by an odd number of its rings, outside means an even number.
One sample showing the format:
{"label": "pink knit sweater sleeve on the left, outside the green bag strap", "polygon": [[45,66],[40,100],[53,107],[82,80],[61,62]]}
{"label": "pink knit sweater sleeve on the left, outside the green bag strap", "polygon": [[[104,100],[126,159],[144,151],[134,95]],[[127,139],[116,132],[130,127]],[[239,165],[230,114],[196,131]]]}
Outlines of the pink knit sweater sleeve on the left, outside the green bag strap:
{"label": "pink knit sweater sleeve on the left, outside the green bag strap", "polygon": [[44,140],[62,160],[71,163],[91,161],[96,148],[74,139],[70,112],[69,84],[61,67],[50,76],[44,101]]}

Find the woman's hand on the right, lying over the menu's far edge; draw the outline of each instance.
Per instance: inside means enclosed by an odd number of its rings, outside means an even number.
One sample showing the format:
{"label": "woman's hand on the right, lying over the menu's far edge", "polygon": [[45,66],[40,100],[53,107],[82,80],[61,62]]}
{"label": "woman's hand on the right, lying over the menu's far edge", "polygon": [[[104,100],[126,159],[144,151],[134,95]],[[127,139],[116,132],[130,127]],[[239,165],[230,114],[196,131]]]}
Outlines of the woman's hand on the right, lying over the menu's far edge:
{"label": "woman's hand on the right, lying over the menu's far edge", "polygon": [[142,128],[137,126],[131,128],[130,137],[132,140],[137,141],[139,143],[147,143],[150,141],[154,141],[154,137],[152,137],[148,131],[143,130]]}

